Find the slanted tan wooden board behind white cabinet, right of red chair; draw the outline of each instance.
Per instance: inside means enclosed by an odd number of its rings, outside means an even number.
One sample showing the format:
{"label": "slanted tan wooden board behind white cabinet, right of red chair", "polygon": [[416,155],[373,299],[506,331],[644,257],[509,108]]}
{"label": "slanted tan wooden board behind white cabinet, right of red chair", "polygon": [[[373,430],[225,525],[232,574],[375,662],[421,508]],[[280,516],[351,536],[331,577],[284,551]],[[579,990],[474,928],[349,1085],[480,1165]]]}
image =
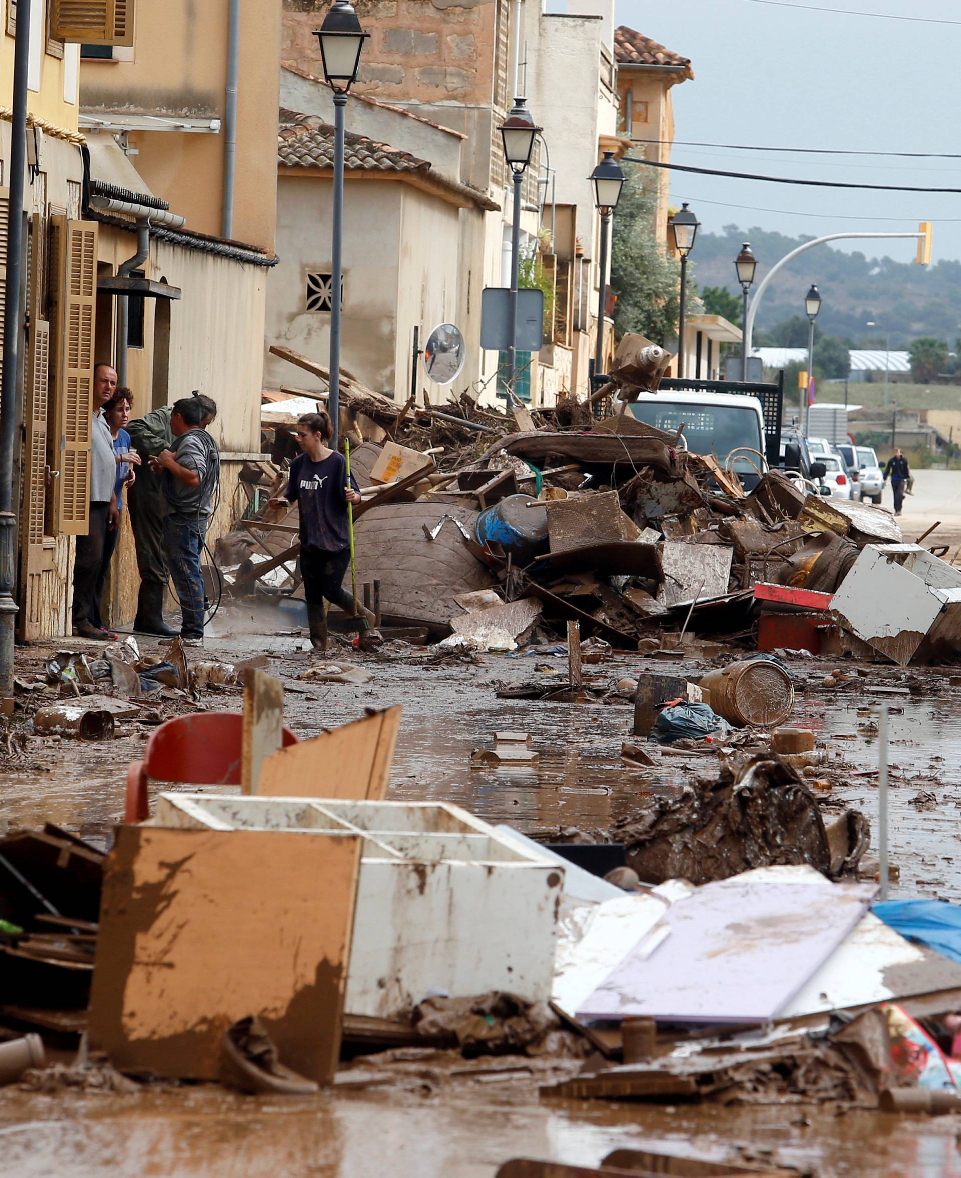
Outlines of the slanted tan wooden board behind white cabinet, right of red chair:
{"label": "slanted tan wooden board behind white cabinet, right of red chair", "polygon": [[338,798],[383,801],[397,744],[401,708],[289,744],[261,767],[257,794],[268,798]]}

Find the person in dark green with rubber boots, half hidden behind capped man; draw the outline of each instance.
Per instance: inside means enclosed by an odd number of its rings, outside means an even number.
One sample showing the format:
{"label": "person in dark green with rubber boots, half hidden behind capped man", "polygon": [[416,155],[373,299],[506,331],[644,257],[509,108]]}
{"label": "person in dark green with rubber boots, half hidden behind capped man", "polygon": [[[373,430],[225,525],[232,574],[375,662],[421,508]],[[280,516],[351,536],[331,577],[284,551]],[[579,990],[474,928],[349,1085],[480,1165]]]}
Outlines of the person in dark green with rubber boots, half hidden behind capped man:
{"label": "person in dark green with rubber boots, half hidden behind capped man", "polygon": [[[199,393],[195,396],[208,410],[200,423],[202,429],[206,429],[217,416],[217,406],[210,397]],[[180,631],[164,621],[164,590],[170,577],[164,558],[166,499],[163,476],[153,474],[147,459],[156,458],[162,450],[169,450],[173,444],[173,432],[170,428],[171,412],[172,405],[162,405],[127,423],[130,441],[143,459],[137,482],[127,494],[130,524],[137,549],[137,571],[140,575],[133,629],[138,634],[153,634],[164,638],[173,637]]]}

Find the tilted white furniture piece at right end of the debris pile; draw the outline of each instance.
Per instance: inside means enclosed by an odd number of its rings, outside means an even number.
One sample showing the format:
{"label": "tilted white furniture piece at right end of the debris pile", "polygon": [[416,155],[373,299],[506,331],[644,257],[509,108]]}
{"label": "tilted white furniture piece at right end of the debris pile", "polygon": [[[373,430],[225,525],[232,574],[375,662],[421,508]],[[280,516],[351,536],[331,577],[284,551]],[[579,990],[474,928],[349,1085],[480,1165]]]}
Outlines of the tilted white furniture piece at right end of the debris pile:
{"label": "tilted white furniture piece at right end of the debris pile", "polygon": [[901,667],[961,654],[961,569],[920,544],[868,544],[831,605],[845,629]]}

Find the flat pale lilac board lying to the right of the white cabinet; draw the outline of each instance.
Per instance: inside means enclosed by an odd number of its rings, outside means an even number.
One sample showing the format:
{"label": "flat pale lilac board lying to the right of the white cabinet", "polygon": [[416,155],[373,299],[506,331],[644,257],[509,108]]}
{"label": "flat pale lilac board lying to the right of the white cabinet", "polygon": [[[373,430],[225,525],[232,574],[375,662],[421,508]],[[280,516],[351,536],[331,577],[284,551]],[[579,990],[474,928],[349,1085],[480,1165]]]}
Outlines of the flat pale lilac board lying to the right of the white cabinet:
{"label": "flat pale lilac board lying to the right of the white cabinet", "polygon": [[873,884],[733,876],[671,905],[671,934],[641,941],[578,1010],[578,1018],[769,1023],[842,944]]}

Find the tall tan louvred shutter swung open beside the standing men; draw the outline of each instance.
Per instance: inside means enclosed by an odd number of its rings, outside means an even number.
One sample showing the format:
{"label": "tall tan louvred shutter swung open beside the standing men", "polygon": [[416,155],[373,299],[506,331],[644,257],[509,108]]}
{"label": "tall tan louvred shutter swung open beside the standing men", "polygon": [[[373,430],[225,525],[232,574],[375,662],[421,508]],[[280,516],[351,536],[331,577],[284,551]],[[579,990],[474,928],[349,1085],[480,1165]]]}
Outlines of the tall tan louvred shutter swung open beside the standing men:
{"label": "tall tan louvred shutter swung open beside the standing men", "polygon": [[84,536],[90,507],[93,329],[97,313],[97,223],[55,218],[58,469],[53,532]]}

